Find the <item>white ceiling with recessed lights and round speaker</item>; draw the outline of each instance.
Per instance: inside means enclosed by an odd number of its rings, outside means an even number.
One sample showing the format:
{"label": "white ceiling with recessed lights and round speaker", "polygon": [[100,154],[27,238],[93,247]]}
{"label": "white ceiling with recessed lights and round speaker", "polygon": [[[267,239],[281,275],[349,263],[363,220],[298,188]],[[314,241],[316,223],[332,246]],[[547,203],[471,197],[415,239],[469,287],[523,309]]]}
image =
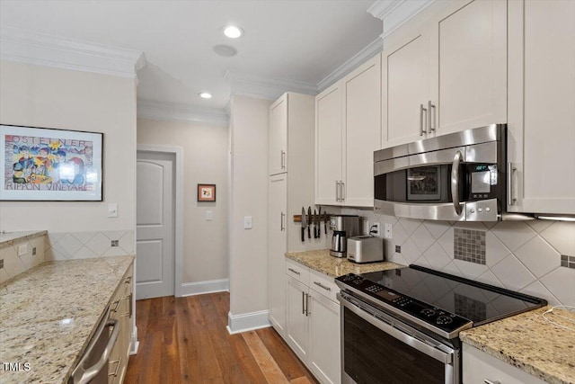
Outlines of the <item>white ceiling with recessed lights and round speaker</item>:
{"label": "white ceiling with recessed lights and round speaker", "polygon": [[[223,109],[226,72],[316,86],[379,39],[375,0],[0,0],[0,25],[143,51],[138,102]],[[226,38],[234,23],[243,37]],[[213,47],[232,45],[233,58]],[[229,76],[229,74],[228,74]],[[200,99],[208,91],[212,99]]]}

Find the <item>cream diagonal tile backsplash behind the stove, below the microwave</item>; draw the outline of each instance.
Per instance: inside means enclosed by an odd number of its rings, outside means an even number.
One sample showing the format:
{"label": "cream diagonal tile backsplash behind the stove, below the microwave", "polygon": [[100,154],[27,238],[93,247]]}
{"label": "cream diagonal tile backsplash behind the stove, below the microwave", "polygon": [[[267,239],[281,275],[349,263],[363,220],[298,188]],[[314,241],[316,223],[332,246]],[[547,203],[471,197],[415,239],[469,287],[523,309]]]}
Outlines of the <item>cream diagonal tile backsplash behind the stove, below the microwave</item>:
{"label": "cream diagonal tile backsplash behind the stove, below the microwave", "polygon": [[[393,225],[393,238],[386,241],[386,260],[520,291],[551,305],[575,306],[575,268],[570,267],[571,260],[575,261],[575,223],[464,223],[398,219],[373,210],[341,213],[359,215],[381,226]],[[396,246],[401,246],[401,254],[395,252]]]}

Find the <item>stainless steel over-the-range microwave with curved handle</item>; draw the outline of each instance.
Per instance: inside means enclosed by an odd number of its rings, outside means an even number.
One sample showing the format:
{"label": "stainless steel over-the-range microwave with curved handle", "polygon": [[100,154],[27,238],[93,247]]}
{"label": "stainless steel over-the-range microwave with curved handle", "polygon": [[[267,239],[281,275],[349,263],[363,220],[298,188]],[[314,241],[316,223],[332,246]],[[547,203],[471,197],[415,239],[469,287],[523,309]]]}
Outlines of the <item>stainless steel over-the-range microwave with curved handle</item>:
{"label": "stainless steel over-the-range microwave with curved handle", "polygon": [[527,219],[507,212],[507,125],[491,124],[374,152],[374,207],[450,221]]}

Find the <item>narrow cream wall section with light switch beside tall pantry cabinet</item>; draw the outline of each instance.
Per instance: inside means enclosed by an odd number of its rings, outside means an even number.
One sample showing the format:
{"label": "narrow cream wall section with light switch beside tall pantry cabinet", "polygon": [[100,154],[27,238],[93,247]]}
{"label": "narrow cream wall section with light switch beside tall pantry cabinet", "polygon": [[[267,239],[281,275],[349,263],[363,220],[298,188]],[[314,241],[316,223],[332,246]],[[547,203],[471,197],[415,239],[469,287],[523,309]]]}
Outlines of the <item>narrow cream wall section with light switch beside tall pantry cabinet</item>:
{"label": "narrow cream wall section with light switch beside tall pantry cabinet", "polygon": [[[268,309],[268,121],[270,101],[232,97],[230,315]],[[252,216],[252,229],[243,218]],[[267,315],[265,315],[267,321]],[[230,326],[234,330],[234,326]]]}

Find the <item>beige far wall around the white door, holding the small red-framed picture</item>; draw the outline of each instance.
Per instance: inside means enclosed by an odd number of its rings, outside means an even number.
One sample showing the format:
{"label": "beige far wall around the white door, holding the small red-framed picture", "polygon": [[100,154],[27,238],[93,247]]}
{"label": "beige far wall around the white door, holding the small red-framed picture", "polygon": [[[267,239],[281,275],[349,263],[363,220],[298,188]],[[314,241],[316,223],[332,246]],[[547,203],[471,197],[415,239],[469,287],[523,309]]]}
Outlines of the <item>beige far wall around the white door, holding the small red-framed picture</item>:
{"label": "beige far wall around the white door, holding the small red-framed picture", "polygon": [[[228,278],[227,127],[186,121],[137,120],[137,144],[183,148],[182,282]],[[199,183],[216,184],[216,201],[197,199]],[[213,219],[206,220],[211,210]]]}

